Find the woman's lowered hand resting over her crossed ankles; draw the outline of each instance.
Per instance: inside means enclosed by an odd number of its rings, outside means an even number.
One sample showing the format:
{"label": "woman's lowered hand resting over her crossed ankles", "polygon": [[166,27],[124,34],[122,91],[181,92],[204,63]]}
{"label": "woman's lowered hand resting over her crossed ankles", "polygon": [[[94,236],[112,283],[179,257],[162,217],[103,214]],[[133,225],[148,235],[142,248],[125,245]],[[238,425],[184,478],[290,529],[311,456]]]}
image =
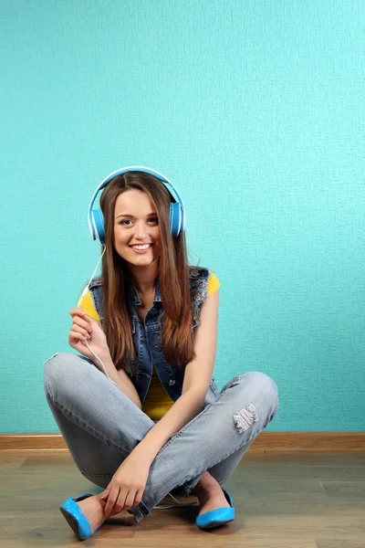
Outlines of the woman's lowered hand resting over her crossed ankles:
{"label": "woman's lowered hand resting over her crossed ankles", "polygon": [[110,511],[114,514],[130,510],[131,506],[137,506],[141,502],[150,468],[151,461],[133,453],[123,460],[101,497],[103,501],[108,500],[104,510],[106,517]]}

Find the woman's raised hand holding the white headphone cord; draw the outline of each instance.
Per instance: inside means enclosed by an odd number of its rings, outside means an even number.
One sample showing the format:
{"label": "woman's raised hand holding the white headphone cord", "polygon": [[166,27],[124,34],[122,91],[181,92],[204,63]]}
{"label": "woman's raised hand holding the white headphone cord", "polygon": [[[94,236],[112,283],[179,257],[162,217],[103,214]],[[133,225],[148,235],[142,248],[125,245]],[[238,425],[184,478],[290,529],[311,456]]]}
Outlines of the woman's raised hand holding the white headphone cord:
{"label": "woman's raised hand holding the white headphone cord", "polygon": [[89,351],[85,342],[86,339],[92,352],[96,353],[101,361],[103,357],[110,355],[107,339],[99,322],[92,320],[80,306],[71,309],[69,314],[72,317],[72,326],[68,334],[68,344],[87,356],[101,370],[99,360]]}

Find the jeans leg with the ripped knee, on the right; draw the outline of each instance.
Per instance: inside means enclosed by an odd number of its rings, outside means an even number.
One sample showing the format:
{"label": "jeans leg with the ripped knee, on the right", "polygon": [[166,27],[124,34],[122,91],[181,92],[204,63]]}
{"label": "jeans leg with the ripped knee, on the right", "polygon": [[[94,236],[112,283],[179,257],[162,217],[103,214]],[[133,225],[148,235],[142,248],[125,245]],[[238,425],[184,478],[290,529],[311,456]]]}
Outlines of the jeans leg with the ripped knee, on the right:
{"label": "jeans leg with the ripped knee, on the right", "polygon": [[[266,374],[235,376],[217,399],[174,434],[151,464],[137,522],[176,486],[190,494],[205,470],[233,472],[255,437],[273,420],[278,409],[277,387]],[[222,469],[219,464],[224,463]],[[213,474],[212,474],[213,475]]]}

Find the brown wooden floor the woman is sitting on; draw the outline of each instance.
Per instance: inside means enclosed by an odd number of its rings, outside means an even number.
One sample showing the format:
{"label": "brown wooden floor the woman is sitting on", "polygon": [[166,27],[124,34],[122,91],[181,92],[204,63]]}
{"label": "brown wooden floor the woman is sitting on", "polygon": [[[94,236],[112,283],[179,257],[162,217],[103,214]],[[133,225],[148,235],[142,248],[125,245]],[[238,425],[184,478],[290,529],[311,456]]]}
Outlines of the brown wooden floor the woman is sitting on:
{"label": "brown wooden floor the woman is sitting on", "polygon": [[68,451],[0,451],[0,546],[365,548],[365,453],[253,451],[224,486],[235,500],[229,525],[199,530],[197,507],[154,510],[139,524],[123,511],[80,544],[58,507],[100,489]]}

